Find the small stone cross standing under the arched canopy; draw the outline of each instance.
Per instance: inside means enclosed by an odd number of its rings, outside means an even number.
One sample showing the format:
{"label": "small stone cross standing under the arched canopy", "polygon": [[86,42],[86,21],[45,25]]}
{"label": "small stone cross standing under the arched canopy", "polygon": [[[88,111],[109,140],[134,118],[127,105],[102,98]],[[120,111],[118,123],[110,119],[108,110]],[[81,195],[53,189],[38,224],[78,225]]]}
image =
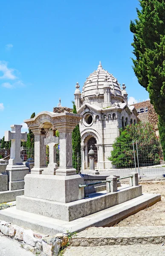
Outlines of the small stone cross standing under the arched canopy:
{"label": "small stone cross standing under the arched canopy", "polygon": [[49,137],[44,139],[44,145],[49,146],[49,164],[47,168],[43,169],[42,174],[55,175],[55,170],[58,168],[56,163],[56,148],[55,146],[59,144],[59,137],[56,137],[55,131],[49,131]]}

